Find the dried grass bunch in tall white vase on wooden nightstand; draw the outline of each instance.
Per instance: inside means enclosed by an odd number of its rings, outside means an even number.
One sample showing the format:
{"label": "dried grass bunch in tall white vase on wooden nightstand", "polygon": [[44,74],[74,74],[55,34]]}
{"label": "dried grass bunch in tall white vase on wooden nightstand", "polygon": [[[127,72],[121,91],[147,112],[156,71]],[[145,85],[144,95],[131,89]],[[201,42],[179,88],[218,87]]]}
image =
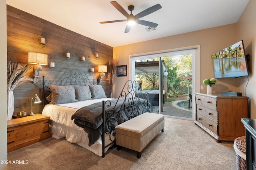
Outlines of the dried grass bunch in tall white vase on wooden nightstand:
{"label": "dried grass bunch in tall white vase on wooden nightstand", "polygon": [[20,64],[18,61],[7,62],[7,120],[12,119],[14,111],[13,90],[24,81],[34,81],[26,73],[31,68],[29,64]]}

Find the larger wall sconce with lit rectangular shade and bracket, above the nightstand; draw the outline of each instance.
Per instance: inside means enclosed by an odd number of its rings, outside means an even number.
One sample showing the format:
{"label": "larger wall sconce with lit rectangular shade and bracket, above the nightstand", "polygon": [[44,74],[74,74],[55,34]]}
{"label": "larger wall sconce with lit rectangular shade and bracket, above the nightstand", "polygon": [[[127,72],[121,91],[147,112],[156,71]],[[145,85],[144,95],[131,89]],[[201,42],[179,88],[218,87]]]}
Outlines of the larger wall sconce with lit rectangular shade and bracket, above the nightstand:
{"label": "larger wall sconce with lit rectangular shade and bracket, above the nightstand", "polygon": [[39,71],[42,71],[41,65],[48,65],[48,55],[42,53],[28,53],[28,63],[29,64],[36,64],[34,66],[33,75],[34,75],[34,84],[38,82],[39,78]]}

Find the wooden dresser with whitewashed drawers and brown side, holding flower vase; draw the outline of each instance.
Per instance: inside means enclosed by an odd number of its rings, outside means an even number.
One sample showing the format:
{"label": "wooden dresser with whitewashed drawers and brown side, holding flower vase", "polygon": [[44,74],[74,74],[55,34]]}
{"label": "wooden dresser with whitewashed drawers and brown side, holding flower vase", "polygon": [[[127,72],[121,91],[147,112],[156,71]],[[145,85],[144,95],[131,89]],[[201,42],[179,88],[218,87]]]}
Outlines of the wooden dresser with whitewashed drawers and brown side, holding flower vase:
{"label": "wooden dresser with whitewashed drawers and brown side, holding flower vase", "polygon": [[245,136],[241,118],[248,118],[248,97],[195,93],[195,102],[195,123],[218,142]]}

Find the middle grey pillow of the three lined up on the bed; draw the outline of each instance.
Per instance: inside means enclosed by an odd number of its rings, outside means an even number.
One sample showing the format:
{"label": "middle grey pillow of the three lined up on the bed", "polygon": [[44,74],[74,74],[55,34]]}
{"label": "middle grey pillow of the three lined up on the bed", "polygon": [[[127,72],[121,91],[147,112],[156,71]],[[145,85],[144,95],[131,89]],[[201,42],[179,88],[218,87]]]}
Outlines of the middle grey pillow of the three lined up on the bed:
{"label": "middle grey pillow of the three lined up on the bed", "polygon": [[92,95],[88,85],[74,85],[76,99],[78,101],[90,100]]}

